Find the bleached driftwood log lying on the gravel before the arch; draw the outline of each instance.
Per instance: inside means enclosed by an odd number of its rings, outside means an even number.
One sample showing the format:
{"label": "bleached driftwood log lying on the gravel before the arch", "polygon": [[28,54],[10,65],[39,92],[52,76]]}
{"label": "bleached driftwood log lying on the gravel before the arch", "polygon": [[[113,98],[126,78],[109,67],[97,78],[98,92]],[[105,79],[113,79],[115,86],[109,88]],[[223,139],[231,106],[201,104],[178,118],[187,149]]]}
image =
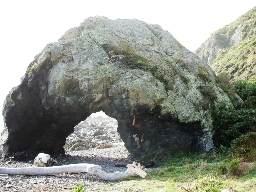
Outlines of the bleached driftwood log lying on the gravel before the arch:
{"label": "bleached driftwood log lying on the gravel before the arch", "polygon": [[[80,163],[71,165],[62,165],[54,167],[21,167],[21,168],[6,168],[0,167],[0,174],[8,175],[52,175],[58,173],[89,173],[98,175],[107,181],[117,181],[120,179],[125,179],[131,176],[140,176],[142,178],[149,178],[140,163],[135,161],[132,164],[126,166],[127,170],[125,172],[117,171],[115,173],[106,173],[102,170],[102,167],[94,164]],[[145,171],[144,171],[145,170]]]}

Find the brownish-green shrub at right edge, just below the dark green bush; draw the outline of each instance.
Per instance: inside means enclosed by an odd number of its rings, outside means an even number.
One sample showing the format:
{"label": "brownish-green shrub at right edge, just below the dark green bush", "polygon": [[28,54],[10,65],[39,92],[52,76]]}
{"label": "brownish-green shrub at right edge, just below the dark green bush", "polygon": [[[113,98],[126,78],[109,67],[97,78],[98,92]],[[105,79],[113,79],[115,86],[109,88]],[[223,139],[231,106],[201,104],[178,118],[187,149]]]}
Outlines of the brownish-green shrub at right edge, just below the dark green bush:
{"label": "brownish-green shrub at right edge, just below the dark green bush", "polygon": [[240,135],[232,141],[232,156],[241,157],[244,161],[256,161],[256,132]]}

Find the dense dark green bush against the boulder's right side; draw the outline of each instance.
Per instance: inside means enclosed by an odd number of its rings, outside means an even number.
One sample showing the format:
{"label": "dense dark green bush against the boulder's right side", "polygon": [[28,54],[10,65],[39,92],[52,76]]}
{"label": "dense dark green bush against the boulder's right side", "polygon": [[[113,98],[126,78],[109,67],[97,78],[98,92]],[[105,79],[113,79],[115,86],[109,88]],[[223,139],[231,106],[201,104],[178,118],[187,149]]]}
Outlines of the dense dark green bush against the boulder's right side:
{"label": "dense dark green bush against the boulder's right side", "polygon": [[[224,79],[225,75],[223,76]],[[226,83],[224,83],[226,84]],[[244,100],[234,108],[227,108],[223,103],[220,107],[212,106],[214,143],[216,146],[230,146],[231,141],[241,134],[253,130],[256,123],[256,78],[239,80],[232,83],[234,91]]]}

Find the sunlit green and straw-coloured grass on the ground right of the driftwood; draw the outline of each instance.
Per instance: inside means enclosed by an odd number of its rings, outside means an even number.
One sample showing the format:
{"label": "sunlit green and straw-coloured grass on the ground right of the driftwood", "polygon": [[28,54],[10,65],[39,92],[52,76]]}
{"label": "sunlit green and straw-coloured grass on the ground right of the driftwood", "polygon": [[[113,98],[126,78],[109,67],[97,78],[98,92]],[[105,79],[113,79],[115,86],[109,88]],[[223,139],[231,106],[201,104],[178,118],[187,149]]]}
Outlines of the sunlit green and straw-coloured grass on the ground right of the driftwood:
{"label": "sunlit green and straw-coloured grass on the ground right of the driftwood", "polygon": [[[227,159],[227,155],[218,154],[214,150],[208,153],[197,153],[193,149],[165,148],[155,155],[145,157],[147,157],[144,159],[146,161],[153,158],[155,162],[160,162],[163,168],[150,171],[150,179],[133,177],[110,184],[106,183],[99,191],[118,191],[120,188],[128,191],[133,187],[134,191],[147,192],[184,192],[184,189],[190,192],[220,192],[230,186],[234,186],[234,189],[239,192],[255,191],[256,165],[251,166],[246,173],[239,176],[228,174],[228,169],[236,170],[237,163],[231,163],[232,166],[229,167],[232,159]],[[213,162],[221,163],[216,166],[207,165],[207,163]],[[240,163],[240,161],[238,162]],[[222,164],[227,171],[219,171]]]}

